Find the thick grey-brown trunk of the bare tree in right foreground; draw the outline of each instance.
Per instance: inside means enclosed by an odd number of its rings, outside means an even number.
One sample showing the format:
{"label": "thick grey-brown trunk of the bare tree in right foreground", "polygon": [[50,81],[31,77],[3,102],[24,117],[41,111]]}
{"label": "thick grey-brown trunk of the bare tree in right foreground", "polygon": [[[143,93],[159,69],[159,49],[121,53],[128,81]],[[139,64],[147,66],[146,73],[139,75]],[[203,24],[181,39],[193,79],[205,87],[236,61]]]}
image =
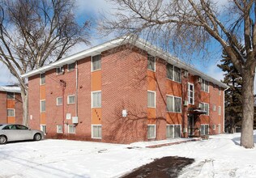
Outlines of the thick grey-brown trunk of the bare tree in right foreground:
{"label": "thick grey-brown trunk of the bare tree in right foreground", "polygon": [[[249,68],[249,67],[248,67]],[[245,69],[242,74],[243,117],[241,126],[241,146],[254,147],[254,72]]]}

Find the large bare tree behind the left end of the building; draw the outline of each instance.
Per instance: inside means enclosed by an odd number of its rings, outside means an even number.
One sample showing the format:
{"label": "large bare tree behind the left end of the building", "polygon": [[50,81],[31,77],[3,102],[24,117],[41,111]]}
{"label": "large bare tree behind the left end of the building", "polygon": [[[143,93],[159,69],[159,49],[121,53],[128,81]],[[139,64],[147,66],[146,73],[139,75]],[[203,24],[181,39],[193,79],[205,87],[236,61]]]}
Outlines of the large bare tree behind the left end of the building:
{"label": "large bare tree behind the left end of the building", "polygon": [[72,0],[0,0],[0,61],[18,79],[23,124],[28,125],[28,86],[20,74],[57,61],[77,43],[88,44],[89,23],[75,21]]}

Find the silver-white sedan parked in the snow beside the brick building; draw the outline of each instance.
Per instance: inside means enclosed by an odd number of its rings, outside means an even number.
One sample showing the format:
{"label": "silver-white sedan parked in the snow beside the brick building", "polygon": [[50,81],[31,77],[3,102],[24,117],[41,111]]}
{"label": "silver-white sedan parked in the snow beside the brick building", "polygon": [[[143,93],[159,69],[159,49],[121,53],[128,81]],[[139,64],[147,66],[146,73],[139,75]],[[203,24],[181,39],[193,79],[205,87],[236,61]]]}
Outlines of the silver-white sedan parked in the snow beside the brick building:
{"label": "silver-white sedan parked in the snow beside the brick building", "polygon": [[0,124],[0,144],[11,141],[44,139],[45,134],[38,129],[29,129],[24,125]]}

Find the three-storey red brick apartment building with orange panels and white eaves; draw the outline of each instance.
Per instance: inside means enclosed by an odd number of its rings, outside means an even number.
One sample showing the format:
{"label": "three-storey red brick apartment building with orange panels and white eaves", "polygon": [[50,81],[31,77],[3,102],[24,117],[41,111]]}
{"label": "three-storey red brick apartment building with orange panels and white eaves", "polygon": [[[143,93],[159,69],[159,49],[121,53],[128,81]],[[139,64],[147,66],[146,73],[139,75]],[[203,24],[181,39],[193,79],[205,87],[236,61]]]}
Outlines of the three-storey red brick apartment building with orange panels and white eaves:
{"label": "three-storey red brick apartment building with orange panels and white eaves", "polygon": [[111,40],[22,77],[29,125],[48,138],[130,143],[224,132],[226,85],[144,40]]}

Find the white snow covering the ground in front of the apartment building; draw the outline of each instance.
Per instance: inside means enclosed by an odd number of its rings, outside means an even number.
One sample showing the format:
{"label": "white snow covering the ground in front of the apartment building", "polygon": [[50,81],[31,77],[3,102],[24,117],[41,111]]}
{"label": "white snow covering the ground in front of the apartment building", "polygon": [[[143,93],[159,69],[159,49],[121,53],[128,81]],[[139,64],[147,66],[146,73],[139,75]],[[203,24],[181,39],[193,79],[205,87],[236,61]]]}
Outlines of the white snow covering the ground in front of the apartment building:
{"label": "white snow covering the ground in front of the apartment building", "polygon": [[180,177],[255,177],[256,148],[239,146],[240,134],[210,138],[159,148],[146,146],[173,140],[130,145],[52,139],[8,143],[0,146],[0,177],[119,177],[170,155],[195,159]]}

